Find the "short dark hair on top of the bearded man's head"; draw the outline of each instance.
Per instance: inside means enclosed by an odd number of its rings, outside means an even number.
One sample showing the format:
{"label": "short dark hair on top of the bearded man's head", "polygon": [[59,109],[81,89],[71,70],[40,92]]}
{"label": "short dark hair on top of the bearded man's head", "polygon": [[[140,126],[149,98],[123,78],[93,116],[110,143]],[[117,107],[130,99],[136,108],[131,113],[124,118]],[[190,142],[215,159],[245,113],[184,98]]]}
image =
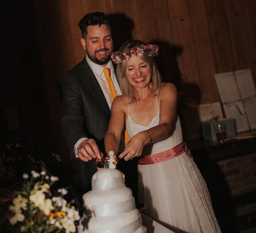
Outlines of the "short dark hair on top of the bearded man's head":
{"label": "short dark hair on top of the bearded man's head", "polygon": [[99,27],[100,27],[101,24],[106,24],[107,28],[109,28],[112,33],[111,22],[110,22],[109,18],[103,12],[94,12],[94,13],[86,14],[80,20],[78,26],[82,32],[82,37],[85,39],[85,37],[88,34],[88,32],[87,32],[88,26],[99,25]]}

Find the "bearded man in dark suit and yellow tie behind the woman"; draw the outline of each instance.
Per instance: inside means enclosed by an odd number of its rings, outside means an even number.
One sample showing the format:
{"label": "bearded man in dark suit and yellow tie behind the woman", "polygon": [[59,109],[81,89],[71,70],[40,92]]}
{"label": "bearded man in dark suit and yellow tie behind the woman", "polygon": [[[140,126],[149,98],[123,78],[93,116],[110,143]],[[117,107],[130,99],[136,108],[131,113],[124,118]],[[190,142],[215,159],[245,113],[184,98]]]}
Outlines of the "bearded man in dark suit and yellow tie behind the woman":
{"label": "bearded man in dark suit and yellow tie behind the woman", "polygon": [[[81,44],[85,58],[61,78],[63,116],[61,128],[71,157],[75,160],[75,188],[80,195],[91,190],[92,175],[97,171],[95,159],[105,153],[104,136],[110,119],[110,109],[115,95],[122,95],[115,76],[110,55],[113,51],[112,27],[102,12],[89,13],[79,22]],[[104,68],[109,68],[107,84]],[[110,85],[110,86],[109,86]],[[115,96],[114,95],[114,96]],[[124,148],[124,140],[120,150]],[[187,148],[186,148],[187,150]],[[188,150],[190,154],[190,151]],[[123,163],[123,164],[122,164]],[[118,163],[126,175],[126,185],[136,197],[136,160]]]}

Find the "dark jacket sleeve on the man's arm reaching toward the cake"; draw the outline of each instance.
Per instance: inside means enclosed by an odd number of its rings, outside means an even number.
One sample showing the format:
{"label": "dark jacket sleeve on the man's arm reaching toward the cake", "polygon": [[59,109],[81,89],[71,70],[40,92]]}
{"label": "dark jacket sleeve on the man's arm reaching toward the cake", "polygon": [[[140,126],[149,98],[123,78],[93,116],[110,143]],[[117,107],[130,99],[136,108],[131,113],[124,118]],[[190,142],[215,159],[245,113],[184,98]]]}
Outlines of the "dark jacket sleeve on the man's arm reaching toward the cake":
{"label": "dark jacket sleeve on the man's arm reaching toward the cake", "polygon": [[75,143],[82,137],[88,137],[84,129],[86,118],[83,114],[82,95],[75,80],[75,74],[71,71],[61,77],[63,96],[61,130],[70,149],[71,158],[75,156]]}

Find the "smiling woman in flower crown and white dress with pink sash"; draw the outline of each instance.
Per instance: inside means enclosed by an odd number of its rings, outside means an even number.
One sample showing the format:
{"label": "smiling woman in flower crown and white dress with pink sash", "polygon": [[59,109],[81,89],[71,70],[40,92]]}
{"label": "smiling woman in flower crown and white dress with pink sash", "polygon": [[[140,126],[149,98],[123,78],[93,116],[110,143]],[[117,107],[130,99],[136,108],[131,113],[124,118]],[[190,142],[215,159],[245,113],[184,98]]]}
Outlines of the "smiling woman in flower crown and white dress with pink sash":
{"label": "smiling woman in flower crown and white dress with pink sash", "polygon": [[123,93],[114,99],[106,152],[118,153],[124,123],[130,141],[119,155],[138,157],[139,201],[145,214],[174,232],[220,232],[196,164],[184,152],[177,90],[161,83],[153,56],[158,46],[129,40],[111,58]]}

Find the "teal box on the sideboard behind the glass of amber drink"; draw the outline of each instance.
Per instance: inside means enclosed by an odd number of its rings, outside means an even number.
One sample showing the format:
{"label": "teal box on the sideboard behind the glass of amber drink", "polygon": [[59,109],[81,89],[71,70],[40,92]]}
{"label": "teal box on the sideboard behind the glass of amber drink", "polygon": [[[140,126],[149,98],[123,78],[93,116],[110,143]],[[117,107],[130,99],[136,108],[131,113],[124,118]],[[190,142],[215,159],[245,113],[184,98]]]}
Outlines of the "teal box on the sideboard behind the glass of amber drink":
{"label": "teal box on the sideboard behind the glass of amber drink", "polygon": [[203,139],[209,141],[217,141],[216,129],[218,124],[221,128],[225,129],[225,137],[234,137],[236,135],[235,119],[233,118],[223,118],[212,121],[204,121],[202,124]]}

